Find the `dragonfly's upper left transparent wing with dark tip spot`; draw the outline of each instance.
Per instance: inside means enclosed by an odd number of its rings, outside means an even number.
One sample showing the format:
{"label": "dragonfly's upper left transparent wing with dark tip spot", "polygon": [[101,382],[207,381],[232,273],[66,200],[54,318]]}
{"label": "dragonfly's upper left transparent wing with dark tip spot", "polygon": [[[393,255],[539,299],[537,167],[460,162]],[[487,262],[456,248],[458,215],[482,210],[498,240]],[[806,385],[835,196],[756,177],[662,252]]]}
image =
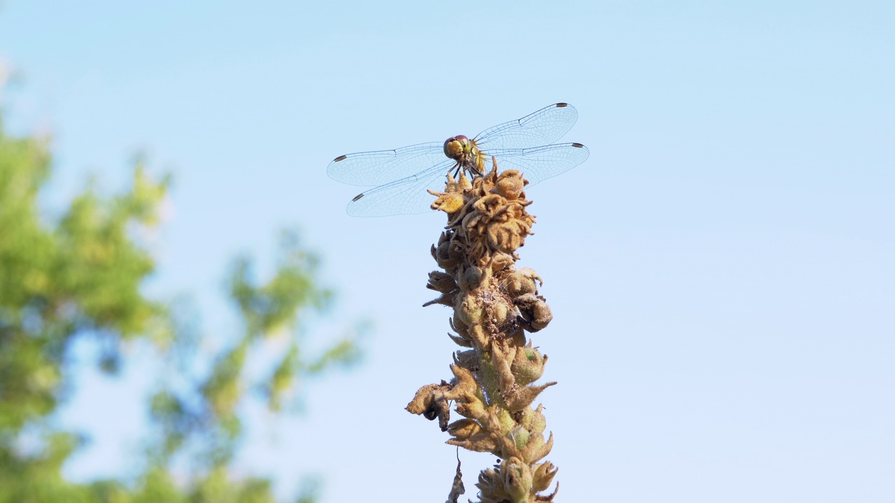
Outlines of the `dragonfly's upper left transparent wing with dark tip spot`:
{"label": "dragonfly's upper left transparent wing with dark tip spot", "polygon": [[445,160],[442,143],[420,143],[394,150],[339,156],[329,163],[327,174],[342,183],[381,185],[425,171]]}

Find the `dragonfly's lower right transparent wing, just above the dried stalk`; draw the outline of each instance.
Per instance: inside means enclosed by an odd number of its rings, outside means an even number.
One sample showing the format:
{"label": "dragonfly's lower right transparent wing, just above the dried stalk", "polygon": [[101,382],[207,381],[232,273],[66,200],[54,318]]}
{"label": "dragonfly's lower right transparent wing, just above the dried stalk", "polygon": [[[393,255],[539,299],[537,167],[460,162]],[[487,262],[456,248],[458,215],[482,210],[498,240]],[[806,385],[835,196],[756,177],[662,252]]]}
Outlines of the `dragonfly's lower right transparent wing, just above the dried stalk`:
{"label": "dragonfly's lower right transparent wing, just above the dried stalk", "polygon": [[518,169],[533,185],[578,166],[591,152],[581,143],[558,143],[533,149],[490,150],[485,155],[497,158],[501,170]]}

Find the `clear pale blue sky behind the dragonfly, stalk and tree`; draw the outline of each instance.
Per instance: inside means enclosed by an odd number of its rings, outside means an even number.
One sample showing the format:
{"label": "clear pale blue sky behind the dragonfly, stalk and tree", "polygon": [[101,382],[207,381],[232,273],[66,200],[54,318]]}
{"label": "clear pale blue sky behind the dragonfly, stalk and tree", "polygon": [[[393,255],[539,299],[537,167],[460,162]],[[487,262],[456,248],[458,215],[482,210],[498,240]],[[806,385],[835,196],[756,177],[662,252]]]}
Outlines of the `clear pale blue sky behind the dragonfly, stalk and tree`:
{"label": "clear pale blue sky behind the dragonfly, stalk and tree", "polygon": [[[323,255],[335,315],[373,320],[301,417],[252,413],[239,470],[280,494],[318,473],[324,501],[439,501],[456,465],[403,410],[449,377],[447,308],[419,307],[443,217],[347,217],[359,191],[328,162],[567,101],[591,157],[529,192],[521,250],[555,316],[535,341],[559,498],[888,503],[893,27],[891,1],[9,0],[0,57],[8,125],[55,138],[48,209],[90,173],[121,188],[136,151],[174,173],[149,288],[193,294],[209,334],[238,329],[228,260],[269,265],[284,226]],[[62,421],[95,441],[72,477],[124,473],[149,365],[82,372]],[[493,457],[461,458],[474,499]]]}

